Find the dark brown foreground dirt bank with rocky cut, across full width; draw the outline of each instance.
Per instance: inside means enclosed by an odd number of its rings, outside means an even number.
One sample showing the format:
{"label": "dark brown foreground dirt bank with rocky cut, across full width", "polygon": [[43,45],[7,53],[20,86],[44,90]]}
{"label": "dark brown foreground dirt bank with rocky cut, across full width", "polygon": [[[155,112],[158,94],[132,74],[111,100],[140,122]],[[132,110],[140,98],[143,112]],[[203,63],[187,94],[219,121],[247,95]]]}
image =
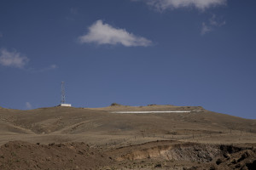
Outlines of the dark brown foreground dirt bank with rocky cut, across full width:
{"label": "dark brown foreground dirt bank with rocky cut, across full width", "polygon": [[109,149],[84,143],[0,147],[1,169],[249,169],[256,150],[234,145],[157,141]]}

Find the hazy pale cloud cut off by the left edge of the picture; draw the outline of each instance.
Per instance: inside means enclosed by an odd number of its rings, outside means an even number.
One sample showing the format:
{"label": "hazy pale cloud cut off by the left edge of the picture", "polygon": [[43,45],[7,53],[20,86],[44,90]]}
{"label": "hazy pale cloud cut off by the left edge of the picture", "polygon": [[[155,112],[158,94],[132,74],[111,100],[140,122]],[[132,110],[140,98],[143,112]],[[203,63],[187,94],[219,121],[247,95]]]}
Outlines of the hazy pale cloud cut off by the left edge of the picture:
{"label": "hazy pale cloud cut off by the left edge of the picture", "polygon": [[5,48],[0,49],[0,65],[23,68],[28,61],[26,56],[22,56],[16,51],[9,52]]}

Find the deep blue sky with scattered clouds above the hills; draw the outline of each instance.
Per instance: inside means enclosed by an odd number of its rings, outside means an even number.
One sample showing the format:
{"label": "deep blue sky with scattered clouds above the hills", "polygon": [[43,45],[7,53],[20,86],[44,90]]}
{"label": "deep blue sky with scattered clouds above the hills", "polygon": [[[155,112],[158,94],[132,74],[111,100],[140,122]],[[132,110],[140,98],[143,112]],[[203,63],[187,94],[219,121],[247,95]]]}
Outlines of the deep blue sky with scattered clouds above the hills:
{"label": "deep blue sky with scattered clouds above the hills", "polygon": [[201,105],[255,119],[254,0],[0,0],[0,106]]}

